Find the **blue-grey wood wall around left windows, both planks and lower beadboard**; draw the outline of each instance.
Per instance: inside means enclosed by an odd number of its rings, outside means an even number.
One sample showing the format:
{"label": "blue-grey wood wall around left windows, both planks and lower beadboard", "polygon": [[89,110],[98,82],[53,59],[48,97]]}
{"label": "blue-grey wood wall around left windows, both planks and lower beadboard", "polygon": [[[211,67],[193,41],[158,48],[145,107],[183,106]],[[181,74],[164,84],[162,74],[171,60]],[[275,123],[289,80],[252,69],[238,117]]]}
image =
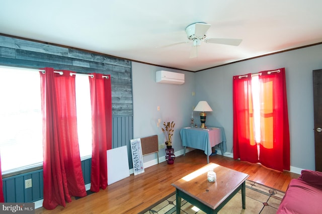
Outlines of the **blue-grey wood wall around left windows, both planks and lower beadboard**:
{"label": "blue-grey wood wall around left windows, both planks and lower beadboard", "polygon": [[[111,75],[112,148],[127,145],[133,168],[130,139],[133,139],[132,63],[129,60],[75,48],[34,42],[0,35],[0,65],[39,69],[52,67],[77,73]],[[90,183],[91,159],[82,161],[85,183]],[[25,189],[24,180],[32,178],[33,188]],[[34,183],[35,182],[35,183]],[[6,202],[32,202],[42,198],[42,170],[4,179]]]}

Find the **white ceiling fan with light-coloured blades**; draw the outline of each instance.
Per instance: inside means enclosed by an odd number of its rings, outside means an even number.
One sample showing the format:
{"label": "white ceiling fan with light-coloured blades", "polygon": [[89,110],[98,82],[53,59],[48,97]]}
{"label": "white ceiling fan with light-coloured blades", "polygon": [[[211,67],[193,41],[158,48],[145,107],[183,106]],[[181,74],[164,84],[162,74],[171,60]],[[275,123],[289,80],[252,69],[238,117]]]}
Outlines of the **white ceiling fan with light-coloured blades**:
{"label": "white ceiling fan with light-coloured blades", "polygon": [[238,46],[241,43],[241,39],[225,39],[225,38],[206,38],[207,31],[211,27],[210,24],[206,23],[193,23],[186,27],[186,34],[188,37],[188,41],[179,42],[172,45],[178,45],[182,43],[192,42],[192,50],[190,54],[190,58],[195,58],[198,55],[197,48],[200,46],[201,41],[205,43],[215,43],[215,44],[223,44],[223,45],[234,45]]}

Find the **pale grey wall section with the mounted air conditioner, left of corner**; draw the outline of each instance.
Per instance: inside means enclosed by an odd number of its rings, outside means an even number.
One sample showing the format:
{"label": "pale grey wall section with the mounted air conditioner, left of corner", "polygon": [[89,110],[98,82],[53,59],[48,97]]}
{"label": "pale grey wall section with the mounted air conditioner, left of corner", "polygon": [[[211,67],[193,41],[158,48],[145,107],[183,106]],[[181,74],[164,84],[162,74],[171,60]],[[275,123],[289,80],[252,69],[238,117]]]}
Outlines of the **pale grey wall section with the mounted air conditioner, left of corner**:
{"label": "pale grey wall section with the mounted air conditioner, left of corner", "polygon": [[[155,82],[155,72],[167,70],[185,74],[182,85]],[[132,62],[133,80],[133,135],[134,138],[158,135],[158,143],[165,144],[165,136],[161,130],[164,122],[176,123],[173,136],[173,148],[182,154],[183,147],[179,130],[190,125],[190,118],[195,91],[195,73],[176,69],[166,69],[142,63]],[[160,106],[160,111],[157,111]],[[161,123],[157,127],[158,119]],[[165,149],[159,150],[159,157],[165,156]],[[144,162],[156,158],[155,154],[144,156]],[[153,163],[152,163],[153,164]]]}

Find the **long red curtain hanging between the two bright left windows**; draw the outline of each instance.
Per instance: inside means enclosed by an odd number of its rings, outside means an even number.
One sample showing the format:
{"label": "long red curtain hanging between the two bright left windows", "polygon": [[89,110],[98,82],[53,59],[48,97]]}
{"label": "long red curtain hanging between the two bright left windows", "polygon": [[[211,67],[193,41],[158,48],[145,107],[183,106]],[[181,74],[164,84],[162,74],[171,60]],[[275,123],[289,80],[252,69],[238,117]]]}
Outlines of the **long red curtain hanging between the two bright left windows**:
{"label": "long red curtain hanging between the two bright left windows", "polygon": [[79,156],[75,77],[45,68],[40,73],[43,114],[43,177],[46,209],[65,206],[71,196],[86,195]]}

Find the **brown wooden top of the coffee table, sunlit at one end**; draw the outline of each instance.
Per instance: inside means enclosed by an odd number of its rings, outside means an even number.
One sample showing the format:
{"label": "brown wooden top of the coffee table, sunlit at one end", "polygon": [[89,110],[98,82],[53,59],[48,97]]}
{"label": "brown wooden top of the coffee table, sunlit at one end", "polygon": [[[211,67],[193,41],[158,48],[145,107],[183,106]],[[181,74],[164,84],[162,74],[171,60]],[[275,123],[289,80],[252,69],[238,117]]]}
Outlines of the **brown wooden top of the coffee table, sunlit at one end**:
{"label": "brown wooden top of the coffee table, sunlit at one end", "polygon": [[[213,183],[207,180],[207,172],[211,169],[217,175],[217,181]],[[209,163],[177,180],[172,185],[212,209],[215,209],[248,177],[249,175],[243,172]]]}

